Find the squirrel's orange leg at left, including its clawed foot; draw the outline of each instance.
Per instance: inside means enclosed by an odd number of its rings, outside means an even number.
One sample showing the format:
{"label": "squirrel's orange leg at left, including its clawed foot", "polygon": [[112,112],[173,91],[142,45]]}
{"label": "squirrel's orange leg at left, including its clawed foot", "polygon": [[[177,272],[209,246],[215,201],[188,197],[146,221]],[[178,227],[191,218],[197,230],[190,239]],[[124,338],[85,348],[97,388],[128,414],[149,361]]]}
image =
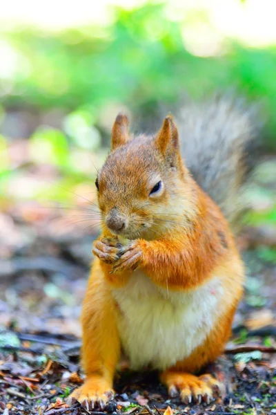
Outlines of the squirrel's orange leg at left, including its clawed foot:
{"label": "squirrel's orange leg at left, including its clawed foot", "polygon": [[86,382],[70,396],[88,407],[95,402],[106,403],[112,396],[112,382],[119,359],[119,333],[115,321],[115,302],[101,264],[95,259],[81,313],[83,329],[82,366]]}

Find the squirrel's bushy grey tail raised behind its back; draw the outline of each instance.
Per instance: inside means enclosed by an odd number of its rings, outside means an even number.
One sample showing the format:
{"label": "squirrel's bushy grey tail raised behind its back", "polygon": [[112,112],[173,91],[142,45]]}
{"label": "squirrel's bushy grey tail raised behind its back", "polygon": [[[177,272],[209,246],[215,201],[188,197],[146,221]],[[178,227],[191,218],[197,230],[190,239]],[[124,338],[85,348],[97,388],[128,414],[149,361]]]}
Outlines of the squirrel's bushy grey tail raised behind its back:
{"label": "squirrel's bushy grey tail raised behind its back", "polygon": [[181,151],[195,181],[232,225],[244,210],[241,190],[255,164],[261,125],[255,107],[215,98],[179,111]]}

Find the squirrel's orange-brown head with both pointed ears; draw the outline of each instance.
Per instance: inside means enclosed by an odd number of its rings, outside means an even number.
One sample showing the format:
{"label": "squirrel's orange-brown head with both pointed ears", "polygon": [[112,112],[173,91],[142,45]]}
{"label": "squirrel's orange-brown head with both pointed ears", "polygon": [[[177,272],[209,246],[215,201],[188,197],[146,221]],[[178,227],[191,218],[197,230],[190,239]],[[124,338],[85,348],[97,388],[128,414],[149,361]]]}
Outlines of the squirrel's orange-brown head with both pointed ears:
{"label": "squirrel's orange-brown head with both pointed ears", "polygon": [[136,137],[130,136],[128,118],[117,116],[111,153],[95,183],[103,222],[112,234],[155,239],[168,232],[191,209],[189,183],[171,116],[155,136]]}

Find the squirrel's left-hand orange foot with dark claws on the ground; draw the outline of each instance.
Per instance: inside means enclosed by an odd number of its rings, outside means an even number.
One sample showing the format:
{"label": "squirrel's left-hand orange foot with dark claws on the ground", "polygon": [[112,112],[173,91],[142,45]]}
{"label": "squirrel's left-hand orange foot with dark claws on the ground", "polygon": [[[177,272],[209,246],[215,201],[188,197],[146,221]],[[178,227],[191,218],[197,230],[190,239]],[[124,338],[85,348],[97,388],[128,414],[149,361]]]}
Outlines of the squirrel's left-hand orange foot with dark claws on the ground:
{"label": "squirrel's left-hand orange foot with dark claws on the ground", "polygon": [[103,409],[108,403],[108,400],[113,398],[114,391],[110,382],[100,376],[92,376],[86,379],[86,382],[81,387],[78,387],[70,394],[67,402],[69,405],[74,405],[77,401],[90,411],[96,406]]}

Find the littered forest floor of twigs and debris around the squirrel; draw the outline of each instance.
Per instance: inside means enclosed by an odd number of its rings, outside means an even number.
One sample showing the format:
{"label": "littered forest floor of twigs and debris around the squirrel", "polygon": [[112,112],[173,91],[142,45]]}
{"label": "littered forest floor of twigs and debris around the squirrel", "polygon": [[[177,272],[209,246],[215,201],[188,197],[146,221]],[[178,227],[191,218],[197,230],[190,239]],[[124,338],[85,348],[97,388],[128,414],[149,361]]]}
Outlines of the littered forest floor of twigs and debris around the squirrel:
{"label": "littered forest floor of twigs and debris around the squirrel", "polygon": [[[77,225],[36,203],[0,214],[0,414],[93,414],[66,397],[83,382],[79,367],[81,301],[91,244]],[[59,220],[54,220],[57,216]],[[226,395],[210,404],[168,398],[155,373],[120,372],[104,413],[276,414],[276,264],[260,247],[276,246],[271,228],[239,237],[248,268],[233,338],[215,368]],[[139,304],[137,304],[139,309]],[[103,414],[101,409],[99,414]]]}

